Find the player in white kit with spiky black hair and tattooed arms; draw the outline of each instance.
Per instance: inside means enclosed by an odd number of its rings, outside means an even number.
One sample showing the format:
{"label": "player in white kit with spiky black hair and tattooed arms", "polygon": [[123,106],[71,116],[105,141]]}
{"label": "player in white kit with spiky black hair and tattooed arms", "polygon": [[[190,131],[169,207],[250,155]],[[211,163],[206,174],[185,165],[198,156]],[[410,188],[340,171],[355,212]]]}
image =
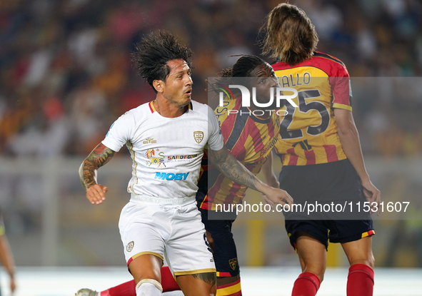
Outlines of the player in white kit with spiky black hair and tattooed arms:
{"label": "player in white kit with spiky black hair and tattooed arms", "polygon": [[150,34],[132,56],[156,99],[121,116],[104,141],[84,160],[79,175],[86,198],[99,204],[107,188],[96,170],[126,146],[134,160],[119,230],[136,295],[161,295],[160,268],[166,255],[186,296],[216,294],[216,270],[195,193],[204,148],[228,178],[292,203],[284,190],[258,180],[228,153],[211,108],[191,101],[191,51],[161,31]]}

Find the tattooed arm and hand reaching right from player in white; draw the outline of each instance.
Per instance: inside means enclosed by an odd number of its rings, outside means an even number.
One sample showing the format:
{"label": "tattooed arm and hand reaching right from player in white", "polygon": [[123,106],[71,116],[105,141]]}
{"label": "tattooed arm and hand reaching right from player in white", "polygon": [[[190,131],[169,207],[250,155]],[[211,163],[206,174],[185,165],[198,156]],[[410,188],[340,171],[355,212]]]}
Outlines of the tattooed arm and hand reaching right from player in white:
{"label": "tattooed arm and hand reaching right from player in white", "polygon": [[223,146],[223,148],[218,151],[209,149],[208,157],[209,160],[211,160],[211,163],[213,163],[226,178],[265,194],[273,203],[293,203],[293,198],[291,198],[285,190],[268,186],[266,183],[263,183],[256,178],[256,175],[253,175],[253,173],[228,152],[226,146]]}

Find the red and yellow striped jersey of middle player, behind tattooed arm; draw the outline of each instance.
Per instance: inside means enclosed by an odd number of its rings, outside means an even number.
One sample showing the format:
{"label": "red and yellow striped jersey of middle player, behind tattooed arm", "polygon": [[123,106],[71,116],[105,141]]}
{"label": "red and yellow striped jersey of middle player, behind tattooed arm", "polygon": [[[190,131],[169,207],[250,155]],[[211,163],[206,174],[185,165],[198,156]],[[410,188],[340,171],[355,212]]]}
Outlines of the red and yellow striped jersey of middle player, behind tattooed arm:
{"label": "red and yellow striped jersey of middle player, behind tattooed arm", "polygon": [[[238,111],[238,113],[228,113],[229,110]],[[271,153],[275,145],[278,132],[280,130],[280,118],[275,112],[265,113],[266,118],[254,116],[251,110],[241,106],[241,97],[226,99],[223,106],[217,107],[214,111],[220,123],[221,133],[224,143],[237,160],[254,175],[261,170],[261,166]],[[202,166],[207,173],[201,175],[199,188],[201,184],[209,183],[209,190],[202,200],[197,201],[200,207],[205,210],[215,210],[216,204],[241,203],[246,193],[246,186],[234,183],[232,180],[224,177],[216,168],[206,168]],[[198,196],[198,195],[197,195]]]}

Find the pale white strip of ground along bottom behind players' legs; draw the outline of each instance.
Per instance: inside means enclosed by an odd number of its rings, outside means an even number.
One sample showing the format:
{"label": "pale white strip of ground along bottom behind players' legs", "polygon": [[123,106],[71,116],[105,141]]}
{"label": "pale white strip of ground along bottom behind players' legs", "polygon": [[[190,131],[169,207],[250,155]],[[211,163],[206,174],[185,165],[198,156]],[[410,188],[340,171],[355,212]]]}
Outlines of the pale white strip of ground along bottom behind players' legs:
{"label": "pale white strip of ground along bottom behind players' legs", "polygon": [[[2,296],[8,296],[9,278],[1,269]],[[300,273],[296,267],[243,267],[244,296],[288,296]],[[346,268],[328,268],[317,295],[346,295]],[[83,287],[104,290],[131,280],[124,267],[18,267],[14,296],[74,296]],[[179,292],[165,296],[183,296]],[[376,268],[374,296],[422,295],[422,269]]]}

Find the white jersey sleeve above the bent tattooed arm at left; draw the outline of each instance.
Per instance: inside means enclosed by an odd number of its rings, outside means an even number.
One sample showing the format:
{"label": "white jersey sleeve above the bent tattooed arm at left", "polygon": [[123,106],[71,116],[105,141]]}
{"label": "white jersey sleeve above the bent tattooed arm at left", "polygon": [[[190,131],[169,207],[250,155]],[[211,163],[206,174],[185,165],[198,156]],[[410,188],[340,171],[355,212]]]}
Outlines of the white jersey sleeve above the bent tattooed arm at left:
{"label": "white jersey sleeve above the bent tattooed arm at left", "polygon": [[119,152],[121,147],[131,140],[133,130],[134,117],[131,113],[125,113],[114,121],[101,143],[114,152]]}

